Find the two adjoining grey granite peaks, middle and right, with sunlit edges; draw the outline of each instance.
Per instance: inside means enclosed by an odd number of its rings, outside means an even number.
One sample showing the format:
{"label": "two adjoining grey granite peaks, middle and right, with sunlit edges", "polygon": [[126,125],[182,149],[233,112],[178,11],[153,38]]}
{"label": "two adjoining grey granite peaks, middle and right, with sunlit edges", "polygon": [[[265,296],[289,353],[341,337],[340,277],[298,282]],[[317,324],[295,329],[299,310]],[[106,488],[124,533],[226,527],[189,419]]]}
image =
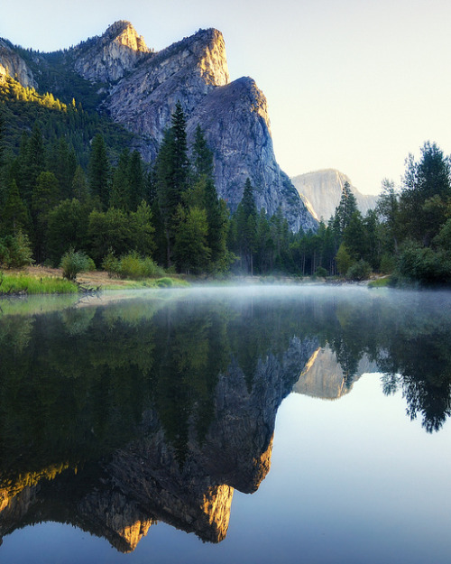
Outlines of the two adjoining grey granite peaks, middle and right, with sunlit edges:
{"label": "two adjoining grey granite peaks, middle and right, with sunlit edges", "polygon": [[201,30],[146,59],[115,85],[106,107],[115,121],[143,136],[141,151],[152,161],[177,102],[187,115],[192,141],[197,125],[214,149],[216,190],[235,210],[249,177],[258,208],[281,207],[290,227],[315,228],[272,147],[266,98],[253,79],[229,82],[221,32]]}

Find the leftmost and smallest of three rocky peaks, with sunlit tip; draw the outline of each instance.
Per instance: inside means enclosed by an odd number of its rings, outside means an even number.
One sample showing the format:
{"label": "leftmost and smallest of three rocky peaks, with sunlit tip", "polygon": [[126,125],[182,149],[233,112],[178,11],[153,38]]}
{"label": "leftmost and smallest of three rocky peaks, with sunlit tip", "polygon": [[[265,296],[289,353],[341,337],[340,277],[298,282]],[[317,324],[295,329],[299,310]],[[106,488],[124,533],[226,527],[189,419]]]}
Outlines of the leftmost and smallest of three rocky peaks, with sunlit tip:
{"label": "leftmost and smallest of three rocky peaks, with sunlit tip", "polygon": [[80,43],[73,51],[74,68],[84,79],[108,82],[122,79],[150,49],[130,22],[110,25],[101,37]]}

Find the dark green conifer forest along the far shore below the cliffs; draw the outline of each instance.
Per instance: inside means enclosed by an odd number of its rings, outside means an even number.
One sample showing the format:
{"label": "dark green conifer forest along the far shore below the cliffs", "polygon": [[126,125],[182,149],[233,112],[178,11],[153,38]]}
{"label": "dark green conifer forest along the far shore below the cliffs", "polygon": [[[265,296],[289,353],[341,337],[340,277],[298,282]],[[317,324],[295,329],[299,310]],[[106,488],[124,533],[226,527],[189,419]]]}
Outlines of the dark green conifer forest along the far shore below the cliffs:
{"label": "dark green conifer forest along the far shore below the cliffs", "polygon": [[180,105],[155,162],[138,140],[72,99],[0,85],[0,264],[144,277],[226,273],[451,282],[451,168],[436,143],[382,181],[363,216],[345,184],[333,217],[292,233],[281,209],[257,209],[250,179],[231,212],[216,194],[202,124],[189,145]]}

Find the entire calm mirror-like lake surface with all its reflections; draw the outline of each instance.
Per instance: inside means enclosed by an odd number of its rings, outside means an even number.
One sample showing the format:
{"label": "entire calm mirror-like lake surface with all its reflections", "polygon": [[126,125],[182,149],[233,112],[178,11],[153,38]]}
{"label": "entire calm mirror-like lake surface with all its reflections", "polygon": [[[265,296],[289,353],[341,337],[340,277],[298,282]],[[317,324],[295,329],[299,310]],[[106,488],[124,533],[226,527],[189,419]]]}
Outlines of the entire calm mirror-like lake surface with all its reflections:
{"label": "entire calm mirror-like lake surface with all its reflections", "polygon": [[0,306],[0,562],[450,561],[450,293]]}

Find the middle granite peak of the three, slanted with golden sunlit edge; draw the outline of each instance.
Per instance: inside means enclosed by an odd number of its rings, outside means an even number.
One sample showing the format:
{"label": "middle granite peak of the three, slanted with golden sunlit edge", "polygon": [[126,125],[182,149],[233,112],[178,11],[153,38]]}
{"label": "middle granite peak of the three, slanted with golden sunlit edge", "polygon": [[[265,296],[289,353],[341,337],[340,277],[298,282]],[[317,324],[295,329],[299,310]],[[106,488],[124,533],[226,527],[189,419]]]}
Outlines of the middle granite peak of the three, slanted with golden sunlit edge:
{"label": "middle granite peak of the three, slanted with golden sunlit edge", "polygon": [[177,102],[189,115],[208,92],[228,80],[223,36],[204,30],[148,58],[112,88],[106,106],[115,121],[152,138],[143,145],[152,160]]}

